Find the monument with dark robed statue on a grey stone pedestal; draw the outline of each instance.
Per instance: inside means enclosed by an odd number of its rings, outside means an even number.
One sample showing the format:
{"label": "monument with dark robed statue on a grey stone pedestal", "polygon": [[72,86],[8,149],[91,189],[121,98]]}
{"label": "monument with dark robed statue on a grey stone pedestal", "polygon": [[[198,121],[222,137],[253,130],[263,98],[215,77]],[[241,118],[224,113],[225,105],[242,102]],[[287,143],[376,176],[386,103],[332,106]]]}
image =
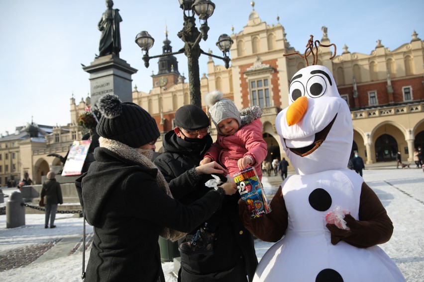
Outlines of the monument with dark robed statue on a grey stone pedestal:
{"label": "monument with dark robed statue on a grey stone pedestal", "polygon": [[99,56],[83,70],[90,73],[91,104],[96,107],[97,100],[113,93],[122,102],[132,102],[131,75],[137,70],[119,58],[121,50],[119,23],[122,21],[118,9],[112,9],[113,1],[106,0],[106,11],[102,14],[98,28],[102,32]]}

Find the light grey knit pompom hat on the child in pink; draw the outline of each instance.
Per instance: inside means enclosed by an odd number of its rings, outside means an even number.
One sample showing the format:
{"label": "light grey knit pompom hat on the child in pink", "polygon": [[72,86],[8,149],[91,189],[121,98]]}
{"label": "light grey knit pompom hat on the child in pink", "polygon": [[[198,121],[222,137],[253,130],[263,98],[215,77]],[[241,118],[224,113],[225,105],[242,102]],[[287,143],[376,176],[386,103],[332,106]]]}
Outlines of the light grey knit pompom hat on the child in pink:
{"label": "light grey knit pompom hat on the child in pink", "polygon": [[218,133],[221,133],[218,124],[229,118],[233,118],[238,122],[238,127],[241,125],[240,113],[234,103],[227,98],[221,98],[222,92],[219,90],[212,91],[205,95],[206,104],[209,108],[212,122],[215,124]]}

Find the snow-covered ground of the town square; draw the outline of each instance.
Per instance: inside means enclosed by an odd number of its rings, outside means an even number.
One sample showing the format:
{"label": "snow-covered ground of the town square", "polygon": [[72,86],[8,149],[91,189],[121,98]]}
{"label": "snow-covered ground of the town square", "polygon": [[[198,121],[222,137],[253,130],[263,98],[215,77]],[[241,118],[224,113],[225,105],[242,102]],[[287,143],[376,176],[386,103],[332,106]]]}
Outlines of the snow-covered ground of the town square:
{"label": "snow-covered ground of the town square", "polygon": [[[422,282],[424,277],[424,173],[421,169],[371,169],[364,170],[364,180],[374,189],[384,204],[395,230],[391,240],[381,248],[393,259],[408,282]],[[271,179],[271,178],[270,178]],[[268,183],[278,186],[278,179]],[[8,189],[3,189],[8,194]],[[5,198],[7,201],[7,198]],[[0,208],[5,204],[0,204]],[[81,238],[83,219],[72,214],[59,213],[56,216],[57,228],[44,228],[44,214],[26,214],[24,226],[6,229],[6,215],[0,215],[0,267],[7,264],[6,254],[11,250],[21,250],[31,246],[45,247],[46,242],[61,240],[35,262],[14,269],[0,271],[1,282],[66,281],[80,282],[82,271],[81,248],[71,252],[73,247],[59,254],[60,246],[67,240],[75,245]],[[92,232],[87,225],[87,233]],[[77,240],[75,240],[77,238]],[[62,245],[61,245],[62,244]],[[258,258],[272,246],[272,243],[255,241]],[[49,256],[50,255],[50,256]],[[89,251],[86,252],[86,263]],[[167,282],[176,282],[172,274],[172,262],[163,263]]]}

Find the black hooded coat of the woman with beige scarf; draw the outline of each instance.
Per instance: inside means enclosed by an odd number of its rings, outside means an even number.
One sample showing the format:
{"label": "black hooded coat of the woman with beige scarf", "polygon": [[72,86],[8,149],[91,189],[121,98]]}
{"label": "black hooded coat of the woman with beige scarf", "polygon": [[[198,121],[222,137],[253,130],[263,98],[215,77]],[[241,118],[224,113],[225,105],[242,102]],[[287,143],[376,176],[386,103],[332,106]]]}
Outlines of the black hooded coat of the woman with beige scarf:
{"label": "black hooded coat of the woman with beige scarf", "polygon": [[94,154],[96,161],[76,181],[86,220],[94,226],[86,282],[163,282],[162,227],[191,231],[216,211],[222,197],[213,191],[184,206],[158,187],[157,169],[103,147]]}

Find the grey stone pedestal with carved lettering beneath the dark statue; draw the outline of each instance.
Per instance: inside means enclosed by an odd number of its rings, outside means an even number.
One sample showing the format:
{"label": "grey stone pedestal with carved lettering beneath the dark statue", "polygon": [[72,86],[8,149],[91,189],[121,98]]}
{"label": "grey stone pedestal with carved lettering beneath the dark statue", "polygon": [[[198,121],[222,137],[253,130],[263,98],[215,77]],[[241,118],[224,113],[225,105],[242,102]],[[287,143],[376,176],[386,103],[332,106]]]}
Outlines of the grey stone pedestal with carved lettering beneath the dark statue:
{"label": "grey stone pedestal with carved lettering beneath the dark statue", "polygon": [[91,104],[105,94],[115,94],[122,102],[132,102],[131,75],[137,70],[115,55],[96,58],[90,66],[83,67],[90,73]]}

